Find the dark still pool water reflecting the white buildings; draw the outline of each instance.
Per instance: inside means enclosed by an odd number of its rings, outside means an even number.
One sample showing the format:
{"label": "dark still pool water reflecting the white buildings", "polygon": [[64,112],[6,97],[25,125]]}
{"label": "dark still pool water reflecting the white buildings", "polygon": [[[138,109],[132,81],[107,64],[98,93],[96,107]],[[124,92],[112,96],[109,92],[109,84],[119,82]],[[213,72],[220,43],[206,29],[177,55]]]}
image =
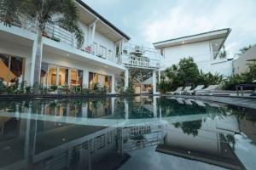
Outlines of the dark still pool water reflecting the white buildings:
{"label": "dark still pool water reflecting the white buildings", "polygon": [[0,101],[0,169],[256,169],[256,111],[197,99]]}

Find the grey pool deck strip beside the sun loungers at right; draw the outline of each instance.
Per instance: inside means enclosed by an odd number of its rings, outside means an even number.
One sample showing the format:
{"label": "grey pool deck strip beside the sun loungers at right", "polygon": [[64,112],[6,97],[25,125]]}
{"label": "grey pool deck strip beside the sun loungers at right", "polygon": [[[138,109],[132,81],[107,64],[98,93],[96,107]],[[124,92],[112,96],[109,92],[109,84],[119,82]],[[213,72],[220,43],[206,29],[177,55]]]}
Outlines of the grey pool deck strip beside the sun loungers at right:
{"label": "grey pool deck strip beside the sun loungers at right", "polygon": [[166,94],[160,94],[160,96],[176,97],[176,98],[184,98],[184,99],[202,99],[202,100],[214,101],[214,102],[219,102],[219,103],[224,103],[229,105],[247,107],[247,108],[256,110],[256,97],[211,96],[211,95],[166,95]]}

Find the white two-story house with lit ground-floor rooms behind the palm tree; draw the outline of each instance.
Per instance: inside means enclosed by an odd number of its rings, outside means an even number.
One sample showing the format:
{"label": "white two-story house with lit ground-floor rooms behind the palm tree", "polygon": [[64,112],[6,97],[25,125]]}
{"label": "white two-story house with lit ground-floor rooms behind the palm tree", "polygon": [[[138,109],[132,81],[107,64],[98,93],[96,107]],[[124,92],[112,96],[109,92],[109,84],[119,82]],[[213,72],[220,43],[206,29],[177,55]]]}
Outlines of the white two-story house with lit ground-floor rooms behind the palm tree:
{"label": "white two-story house with lit ground-floor rooms behind the palm tree", "polygon": [[[122,44],[130,37],[82,1],[75,2],[84,31],[84,45],[77,48],[72,33],[48,25],[43,35],[41,83],[88,88],[98,82],[113,94],[114,75],[125,71],[119,57]],[[32,84],[36,36],[36,25],[32,21],[22,20],[11,27],[0,24],[0,78],[6,85],[18,79]]]}

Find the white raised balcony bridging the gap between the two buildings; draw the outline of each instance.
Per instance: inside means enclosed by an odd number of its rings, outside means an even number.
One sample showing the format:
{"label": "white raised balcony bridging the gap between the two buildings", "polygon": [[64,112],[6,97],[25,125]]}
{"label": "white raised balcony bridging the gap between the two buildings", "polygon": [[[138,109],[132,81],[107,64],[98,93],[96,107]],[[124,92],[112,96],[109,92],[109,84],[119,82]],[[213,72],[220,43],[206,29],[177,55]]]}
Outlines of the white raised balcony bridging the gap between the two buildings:
{"label": "white raised balcony bridging the gap between the two buildings", "polygon": [[126,67],[141,69],[159,69],[162,56],[154,48],[125,43],[123,47],[122,63]]}

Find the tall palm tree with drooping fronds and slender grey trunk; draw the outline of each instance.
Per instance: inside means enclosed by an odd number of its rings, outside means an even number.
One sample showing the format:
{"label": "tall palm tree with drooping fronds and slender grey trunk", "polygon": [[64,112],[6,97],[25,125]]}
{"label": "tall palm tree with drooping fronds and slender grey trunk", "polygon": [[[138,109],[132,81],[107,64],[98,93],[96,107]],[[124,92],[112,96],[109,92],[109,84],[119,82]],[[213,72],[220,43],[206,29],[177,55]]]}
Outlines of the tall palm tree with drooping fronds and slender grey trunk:
{"label": "tall palm tree with drooping fronds and slender grey trunk", "polygon": [[39,93],[40,70],[42,61],[42,34],[47,24],[61,26],[74,34],[78,48],[84,43],[84,33],[79,27],[79,13],[73,0],[0,0],[0,22],[4,26],[13,26],[21,17],[37,24],[37,52],[32,61],[34,71],[34,94]]}

